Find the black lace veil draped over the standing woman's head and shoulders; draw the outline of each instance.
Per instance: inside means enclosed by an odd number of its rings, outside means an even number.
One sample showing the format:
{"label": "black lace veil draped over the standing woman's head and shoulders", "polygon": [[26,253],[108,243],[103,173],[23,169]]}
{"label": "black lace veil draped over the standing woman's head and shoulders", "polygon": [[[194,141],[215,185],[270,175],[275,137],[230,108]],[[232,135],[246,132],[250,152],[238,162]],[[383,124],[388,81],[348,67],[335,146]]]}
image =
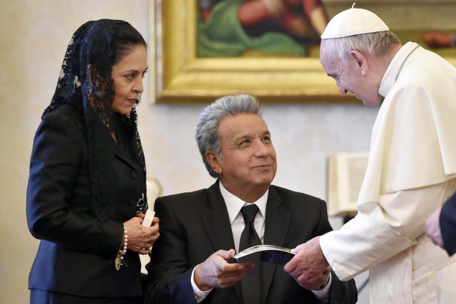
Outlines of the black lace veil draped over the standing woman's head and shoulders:
{"label": "black lace veil draped over the standing woman's head and shoulders", "polygon": [[[56,110],[61,105],[70,104],[83,110],[86,122],[86,140],[89,156],[90,192],[92,211],[100,221],[110,219],[113,208],[113,189],[111,182],[112,161],[108,157],[110,134],[115,130],[115,113],[110,106],[115,95],[115,86],[111,78],[113,49],[111,43],[120,26],[129,23],[120,20],[101,19],[84,23],[73,34],[56,92],[51,104],[44,110],[42,117]],[[138,100],[139,103],[139,100]],[[144,152],[138,134],[138,116],[136,109],[130,115],[121,115],[120,122],[127,128],[135,142],[135,155],[145,174]],[[146,186],[138,198],[137,213],[147,209]]]}

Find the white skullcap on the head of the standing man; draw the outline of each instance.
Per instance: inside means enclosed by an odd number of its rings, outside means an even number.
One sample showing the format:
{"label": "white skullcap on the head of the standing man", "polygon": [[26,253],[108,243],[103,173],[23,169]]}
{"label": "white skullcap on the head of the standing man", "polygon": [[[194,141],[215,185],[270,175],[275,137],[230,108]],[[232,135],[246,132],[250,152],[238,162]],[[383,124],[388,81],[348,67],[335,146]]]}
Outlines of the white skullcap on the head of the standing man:
{"label": "white skullcap on the head of the standing man", "polygon": [[[354,3],[353,6],[355,6]],[[341,11],[329,21],[325,31],[321,34],[322,39],[390,30],[385,22],[373,12],[367,9],[355,9],[353,6],[351,6],[351,9]]]}

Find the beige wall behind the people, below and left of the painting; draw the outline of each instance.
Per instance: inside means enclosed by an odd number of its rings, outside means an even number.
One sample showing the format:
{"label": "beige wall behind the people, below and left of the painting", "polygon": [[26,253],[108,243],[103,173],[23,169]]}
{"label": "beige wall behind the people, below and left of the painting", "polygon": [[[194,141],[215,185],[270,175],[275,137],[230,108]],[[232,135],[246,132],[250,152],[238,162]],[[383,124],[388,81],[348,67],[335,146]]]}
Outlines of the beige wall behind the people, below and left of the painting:
{"label": "beige wall behind the people, below and left of the painting", "polygon": [[[71,34],[100,18],[130,21],[148,37],[147,0],[0,0],[1,303],[28,303],[28,271],[38,246],[25,214],[33,134]],[[145,102],[138,110],[148,175],[160,181],[163,194],[213,182],[194,140],[202,108]],[[368,150],[377,111],[361,105],[266,105],[279,162],[274,184],[326,198],[326,157]],[[337,228],[340,221],[333,224]]]}

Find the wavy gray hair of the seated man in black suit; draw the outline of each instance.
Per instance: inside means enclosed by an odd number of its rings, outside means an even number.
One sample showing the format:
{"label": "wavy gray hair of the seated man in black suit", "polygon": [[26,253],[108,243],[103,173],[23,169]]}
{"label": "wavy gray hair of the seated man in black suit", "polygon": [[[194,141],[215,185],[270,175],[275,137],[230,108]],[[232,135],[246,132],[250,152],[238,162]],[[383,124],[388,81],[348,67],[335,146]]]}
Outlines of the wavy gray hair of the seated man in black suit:
{"label": "wavy gray hair of the seated man in black suit", "polygon": [[199,116],[196,140],[202,161],[212,177],[217,177],[206,159],[206,152],[212,152],[223,158],[222,140],[219,137],[218,126],[224,117],[239,114],[255,114],[261,117],[261,105],[257,98],[251,95],[229,95],[219,98],[208,105]]}

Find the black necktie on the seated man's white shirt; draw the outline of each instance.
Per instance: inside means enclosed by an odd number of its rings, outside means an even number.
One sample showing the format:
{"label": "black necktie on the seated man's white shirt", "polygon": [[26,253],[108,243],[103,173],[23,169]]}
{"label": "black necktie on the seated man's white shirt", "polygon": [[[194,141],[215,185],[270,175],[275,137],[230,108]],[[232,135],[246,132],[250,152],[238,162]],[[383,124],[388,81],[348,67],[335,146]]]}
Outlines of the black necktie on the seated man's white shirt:
{"label": "black necktie on the seated man's white shirt", "polygon": [[[244,206],[241,212],[242,216],[244,216],[245,228],[241,234],[239,251],[261,245],[261,240],[254,226],[258,206],[255,204]],[[241,281],[244,304],[261,303],[261,261],[259,259],[259,253],[253,253],[252,258],[255,262],[255,267],[244,273],[244,278]]]}

